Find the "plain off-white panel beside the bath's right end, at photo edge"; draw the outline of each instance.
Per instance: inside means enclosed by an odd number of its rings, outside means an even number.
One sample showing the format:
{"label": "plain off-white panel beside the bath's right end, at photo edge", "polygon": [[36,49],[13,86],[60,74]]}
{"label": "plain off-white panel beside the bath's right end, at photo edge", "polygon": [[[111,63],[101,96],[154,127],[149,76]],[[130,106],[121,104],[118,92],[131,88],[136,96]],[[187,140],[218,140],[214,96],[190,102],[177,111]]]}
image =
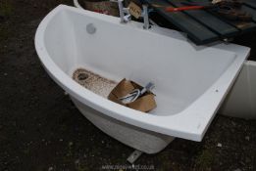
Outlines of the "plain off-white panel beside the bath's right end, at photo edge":
{"label": "plain off-white panel beside the bath's right end, at photo edge", "polygon": [[256,62],[248,61],[243,65],[219,113],[256,119]]}

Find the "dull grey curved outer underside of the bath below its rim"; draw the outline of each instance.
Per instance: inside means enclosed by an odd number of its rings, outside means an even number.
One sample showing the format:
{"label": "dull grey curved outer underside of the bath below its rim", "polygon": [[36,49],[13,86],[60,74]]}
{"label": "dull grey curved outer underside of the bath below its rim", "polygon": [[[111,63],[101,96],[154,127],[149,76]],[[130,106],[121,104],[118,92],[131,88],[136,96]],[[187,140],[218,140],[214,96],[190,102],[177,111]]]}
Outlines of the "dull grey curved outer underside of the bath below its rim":
{"label": "dull grey curved outer underside of the bath below its rim", "polygon": [[164,150],[175,139],[175,137],[129,125],[87,107],[73,97],[71,99],[79,111],[97,128],[135,150],[149,154],[157,153]]}

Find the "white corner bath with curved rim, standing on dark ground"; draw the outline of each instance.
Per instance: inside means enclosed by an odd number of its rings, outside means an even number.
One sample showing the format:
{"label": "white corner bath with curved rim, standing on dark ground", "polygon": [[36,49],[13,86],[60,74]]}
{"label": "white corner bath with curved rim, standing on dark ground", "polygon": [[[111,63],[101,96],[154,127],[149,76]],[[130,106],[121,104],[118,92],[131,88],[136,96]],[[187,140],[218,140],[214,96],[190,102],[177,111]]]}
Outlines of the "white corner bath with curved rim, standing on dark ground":
{"label": "white corner bath with curved rim, standing on dark ground", "polygon": [[[87,31],[88,25],[95,30]],[[138,22],[64,5],[41,21],[35,48],[88,120],[146,153],[163,150],[176,137],[201,141],[250,51],[224,43],[198,47],[174,30],[143,30]],[[115,81],[153,81],[157,107],[143,113],[94,94],[72,79],[78,67]]]}

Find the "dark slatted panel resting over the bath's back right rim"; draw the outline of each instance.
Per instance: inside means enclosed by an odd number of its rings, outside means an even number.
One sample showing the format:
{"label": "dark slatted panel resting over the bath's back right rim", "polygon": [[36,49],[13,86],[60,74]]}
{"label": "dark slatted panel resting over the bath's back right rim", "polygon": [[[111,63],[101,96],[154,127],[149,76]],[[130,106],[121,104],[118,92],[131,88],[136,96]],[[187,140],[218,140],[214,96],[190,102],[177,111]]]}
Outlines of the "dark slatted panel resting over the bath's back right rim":
{"label": "dark slatted panel resting over the bath's back right rim", "polygon": [[[185,32],[187,37],[197,45],[212,43],[218,40],[231,39],[235,36],[256,30],[256,1],[246,0],[234,4],[236,15],[242,20],[230,20],[224,14],[213,10],[190,10],[168,13],[166,7],[182,7],[182,2],[209,4],[209,0],[145,0],[159,16]],[[250,3],[250,5],[247,4]],[[252,6],[255,5],[255,8]],[[247,16],[246,14],[250,14]],[[248,17],[248,19],[246,19]],[[157,20],[154,20],[158,22]],[[162,24],[163,25],[163,24]],[[169,24],[167,24],[169,25]]]}

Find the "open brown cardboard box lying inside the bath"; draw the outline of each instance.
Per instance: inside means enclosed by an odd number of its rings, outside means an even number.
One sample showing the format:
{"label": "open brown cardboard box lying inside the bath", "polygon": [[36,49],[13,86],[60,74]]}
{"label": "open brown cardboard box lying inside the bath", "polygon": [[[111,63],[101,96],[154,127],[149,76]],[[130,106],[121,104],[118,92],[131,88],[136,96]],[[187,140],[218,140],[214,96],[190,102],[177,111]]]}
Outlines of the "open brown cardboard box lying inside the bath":
{"label": "open brown cardboard box lying inside the bath", "polygon": [[147,112],[156,107],[155,95],[152,92],[146,92],[134,102],[124,104],[120,98],[128,95],[134,89],[141,90],[143,87],[133,81],[123,79],[109,94],[108,99],[120,105]]}

